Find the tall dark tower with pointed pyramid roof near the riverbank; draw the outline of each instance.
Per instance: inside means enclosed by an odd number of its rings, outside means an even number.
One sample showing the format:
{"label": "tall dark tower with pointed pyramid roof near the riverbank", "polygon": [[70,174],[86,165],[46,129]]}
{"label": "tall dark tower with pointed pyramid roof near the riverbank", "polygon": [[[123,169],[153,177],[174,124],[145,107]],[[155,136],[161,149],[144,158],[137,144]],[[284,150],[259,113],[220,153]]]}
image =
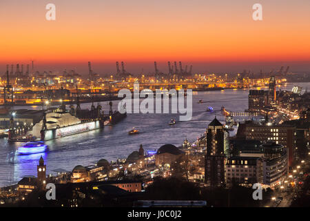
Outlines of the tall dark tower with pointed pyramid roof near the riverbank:
{"label": "tall dark tower with pointed pyramid roof near the riverbank", "polygon": [[209,186],[225,184],[224,128],[216,117],[207,128],[205,155],[205,183]]}

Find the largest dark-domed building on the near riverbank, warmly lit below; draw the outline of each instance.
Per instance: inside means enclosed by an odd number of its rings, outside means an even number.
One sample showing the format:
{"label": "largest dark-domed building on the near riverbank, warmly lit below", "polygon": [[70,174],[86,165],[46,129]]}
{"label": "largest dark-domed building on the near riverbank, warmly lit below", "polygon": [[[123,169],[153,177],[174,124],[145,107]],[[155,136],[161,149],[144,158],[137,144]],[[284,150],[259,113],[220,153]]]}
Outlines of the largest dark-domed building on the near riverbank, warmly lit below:
{"label": "largest dark-domed building on the near riverbank, warmly lit below", "polygon": [[176,161],[180,155],[184,154],[176,146],[172,144],[165,144],[161,146],[155,155],[156,166],[170,166],[172,162]]}

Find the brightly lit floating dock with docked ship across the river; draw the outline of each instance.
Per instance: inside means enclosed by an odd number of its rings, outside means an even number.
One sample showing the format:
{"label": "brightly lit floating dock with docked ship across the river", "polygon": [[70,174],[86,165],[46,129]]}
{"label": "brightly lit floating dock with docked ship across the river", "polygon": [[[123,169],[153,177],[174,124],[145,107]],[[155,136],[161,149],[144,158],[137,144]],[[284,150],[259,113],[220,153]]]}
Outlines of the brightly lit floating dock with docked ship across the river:
{"label": "brightly lit floating dock with docked ship across the river", "polygon": [[76,108],[71,105],[69,111],[65,110],[65,104],[61,104],[60,108],[44,113],[43,119],[34,124],[32,131],[28,131],[28,136],[42,141],[53,140],[116,124],[126,117],[125,109],[123,113],[112,111],[111,101],[109,115],[104,115],[100,104],[94,106],[93,103],[90,110],[81,110],[79,99],[76,101]]}

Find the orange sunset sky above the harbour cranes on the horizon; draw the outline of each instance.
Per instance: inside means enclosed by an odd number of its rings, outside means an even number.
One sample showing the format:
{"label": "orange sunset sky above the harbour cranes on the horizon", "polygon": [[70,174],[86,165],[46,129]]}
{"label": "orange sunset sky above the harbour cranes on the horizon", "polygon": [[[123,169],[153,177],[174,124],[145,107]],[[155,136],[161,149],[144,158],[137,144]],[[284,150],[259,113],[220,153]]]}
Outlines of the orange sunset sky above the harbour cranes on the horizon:
{"label": "orange sunset sky above the harbour cranes on the horizon", "polygon": [[[56,5],[56,21],[45,6]],[[263,21],[252,19],[262,4]],[[96,73],[153,71],[154,61],[194,71],[310,70],[309,0],[1,0],[0,72],[6,64]]]}

